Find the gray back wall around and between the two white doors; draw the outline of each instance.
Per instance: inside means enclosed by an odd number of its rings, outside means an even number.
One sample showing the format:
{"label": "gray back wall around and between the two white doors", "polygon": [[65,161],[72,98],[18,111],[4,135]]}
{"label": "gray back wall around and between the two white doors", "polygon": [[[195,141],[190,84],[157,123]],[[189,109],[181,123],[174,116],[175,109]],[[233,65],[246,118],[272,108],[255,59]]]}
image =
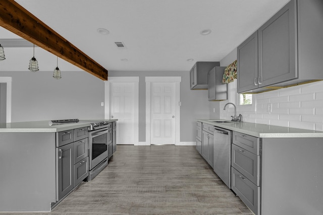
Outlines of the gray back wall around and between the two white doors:
{"label": "gray back wall around and between the two white doors", "polygon": [[195,142],[196,119],[208,119],[207,90],[190,90],[189,71],[109,71],[110,77],[139,76],[139,142],[146,141],[146,83],[149,76],[181,76],[181,142]]}

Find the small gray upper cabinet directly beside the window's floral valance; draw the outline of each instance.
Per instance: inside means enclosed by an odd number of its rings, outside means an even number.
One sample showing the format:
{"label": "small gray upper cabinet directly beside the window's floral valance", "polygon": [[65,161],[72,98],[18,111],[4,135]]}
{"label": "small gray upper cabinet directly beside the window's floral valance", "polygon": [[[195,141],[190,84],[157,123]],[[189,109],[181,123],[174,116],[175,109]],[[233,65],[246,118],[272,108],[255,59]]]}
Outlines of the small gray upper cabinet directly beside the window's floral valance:
{"label": "small gray upper cabinet directly beside the window's floral valance", "polygon": [[223,84],[223,74],[226,67],[214,67],[208,72],[208,100],[221,101],[228,99],[228,84]]}

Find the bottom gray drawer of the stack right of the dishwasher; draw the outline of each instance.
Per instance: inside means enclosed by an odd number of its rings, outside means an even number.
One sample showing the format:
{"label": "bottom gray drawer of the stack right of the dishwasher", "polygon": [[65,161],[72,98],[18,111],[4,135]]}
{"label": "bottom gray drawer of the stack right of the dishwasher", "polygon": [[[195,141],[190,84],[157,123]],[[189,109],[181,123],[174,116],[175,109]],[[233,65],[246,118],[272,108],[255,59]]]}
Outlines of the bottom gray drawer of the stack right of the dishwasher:
{"label": "bottom gray drawer of the stack right of the dishwasher", "polygon": [[231,167],[231,189],[255,214],[260,214],[260,187],[233,167]]}

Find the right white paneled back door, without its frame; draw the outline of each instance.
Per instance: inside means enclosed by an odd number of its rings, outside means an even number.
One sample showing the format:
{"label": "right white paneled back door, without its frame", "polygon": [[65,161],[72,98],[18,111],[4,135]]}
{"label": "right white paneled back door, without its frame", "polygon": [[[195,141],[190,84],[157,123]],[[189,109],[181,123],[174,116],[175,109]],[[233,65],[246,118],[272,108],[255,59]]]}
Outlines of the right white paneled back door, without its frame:
{"label": "right white paneled back door, without its frame", "polygon": [[175,144],[175,83],[152,83],[151,144]]}

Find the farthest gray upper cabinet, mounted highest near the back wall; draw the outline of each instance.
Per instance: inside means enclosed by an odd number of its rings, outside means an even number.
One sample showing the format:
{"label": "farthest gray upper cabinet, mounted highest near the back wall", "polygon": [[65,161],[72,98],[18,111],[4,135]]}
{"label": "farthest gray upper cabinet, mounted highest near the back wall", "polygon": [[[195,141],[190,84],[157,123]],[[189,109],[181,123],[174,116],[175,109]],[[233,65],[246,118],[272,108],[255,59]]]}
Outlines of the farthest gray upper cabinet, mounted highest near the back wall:
{"label": "farthest gray upper cabinet, mounted highest near the back wall", "polygon": [[190,71],[190,89],[207,89],[207,73],[220,62],[196,62]]}

